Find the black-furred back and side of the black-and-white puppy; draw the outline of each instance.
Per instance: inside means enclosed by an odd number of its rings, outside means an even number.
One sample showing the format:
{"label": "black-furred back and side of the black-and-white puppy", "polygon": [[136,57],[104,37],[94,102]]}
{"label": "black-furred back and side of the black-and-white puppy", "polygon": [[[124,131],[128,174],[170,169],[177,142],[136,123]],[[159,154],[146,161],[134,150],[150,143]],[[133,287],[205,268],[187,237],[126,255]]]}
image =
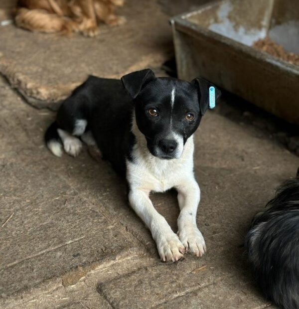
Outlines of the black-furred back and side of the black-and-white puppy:
{"label": "black-furred back and side of the black-and-white puppy", "polygon": [[56,121],[60,128],[72,132],[76,119],[86,119],[86,131],[93,132],[103,158],[109,158],[116,171],[124,175],[125,158],[130,157],[134,144],[132,112],[132,98],[121,80],[90,76],[62,103]]}

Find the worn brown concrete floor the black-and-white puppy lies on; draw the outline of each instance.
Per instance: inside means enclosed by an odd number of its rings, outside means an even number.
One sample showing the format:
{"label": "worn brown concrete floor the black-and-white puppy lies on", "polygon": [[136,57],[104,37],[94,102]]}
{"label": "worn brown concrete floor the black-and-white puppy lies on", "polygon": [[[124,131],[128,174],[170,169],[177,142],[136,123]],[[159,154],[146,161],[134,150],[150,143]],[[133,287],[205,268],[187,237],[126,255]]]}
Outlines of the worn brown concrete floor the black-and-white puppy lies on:
{"label": "worn brown concrete floor the black-and-white puppy lies on", "polygon": [[[267,117],[250,113],[260,126],[243,114],[231,117],[223,102],[204,116],[194,160],[208,252],[165,264],[107,162],[87,149],[77,158],[50,154],[43,133],[55,113],[27,105],[1,78],[0,308],[274,308],[241,245],[252,216],[295,175],[299,158],[272,138]],[[152,200],[176,231],[175,193]]]}

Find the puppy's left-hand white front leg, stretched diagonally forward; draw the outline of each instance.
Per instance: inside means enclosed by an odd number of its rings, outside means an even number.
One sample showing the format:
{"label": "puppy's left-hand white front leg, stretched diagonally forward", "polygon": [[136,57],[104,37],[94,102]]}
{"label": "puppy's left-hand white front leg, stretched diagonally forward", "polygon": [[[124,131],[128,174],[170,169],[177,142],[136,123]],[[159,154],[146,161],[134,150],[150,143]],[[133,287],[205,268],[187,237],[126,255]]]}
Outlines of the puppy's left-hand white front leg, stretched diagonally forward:
{"label": "puppy's left-hand white front leg, stretched diagonally forward", "polygon": [[149,199],[149,192],[139,189],[130,190],[129,202],[138,216],[149,227],[161,260],[174,262],[182,258],[185,248],[178,236],[171,230],[165,218],[154,209]]}

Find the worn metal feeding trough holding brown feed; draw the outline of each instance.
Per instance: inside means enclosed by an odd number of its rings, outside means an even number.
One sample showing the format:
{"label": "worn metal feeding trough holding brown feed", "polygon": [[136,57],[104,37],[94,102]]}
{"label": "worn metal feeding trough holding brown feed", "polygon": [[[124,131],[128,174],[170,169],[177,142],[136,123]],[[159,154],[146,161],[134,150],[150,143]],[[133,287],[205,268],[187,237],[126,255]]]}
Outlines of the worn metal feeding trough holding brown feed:
{"label": "worn metal feeding trough holding brown feed", "polygon": [[299,66],[252,47],[267,35],[299,54],[298,0],[223,0],[170,20],[178,77],[202,76],[299,125]]}

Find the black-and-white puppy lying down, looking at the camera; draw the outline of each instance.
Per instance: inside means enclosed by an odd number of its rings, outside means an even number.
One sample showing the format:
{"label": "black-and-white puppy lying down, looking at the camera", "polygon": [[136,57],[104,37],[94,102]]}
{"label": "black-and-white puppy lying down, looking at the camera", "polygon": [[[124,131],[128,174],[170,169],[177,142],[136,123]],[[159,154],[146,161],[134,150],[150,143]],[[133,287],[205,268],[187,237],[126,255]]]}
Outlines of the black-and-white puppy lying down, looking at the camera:
{"label": "black-and-white puppy lying down, looking at the camera", "polygon": [[[132,208],[149,227],[163,261],[186,250],[202,256],[206,246],[196,225],[200,199],[193,174],[193,133],[209,106],[203,79],[157,78],[150,69],[121,80],[90,76],[61,105],[45,140],[61,156],[79,154],[82,143],[97,145],[128,181]],[[220,91],[215,88],[215,98]],[[175,188],[180,207],[175,234],[153,207],[149,193]]]}

